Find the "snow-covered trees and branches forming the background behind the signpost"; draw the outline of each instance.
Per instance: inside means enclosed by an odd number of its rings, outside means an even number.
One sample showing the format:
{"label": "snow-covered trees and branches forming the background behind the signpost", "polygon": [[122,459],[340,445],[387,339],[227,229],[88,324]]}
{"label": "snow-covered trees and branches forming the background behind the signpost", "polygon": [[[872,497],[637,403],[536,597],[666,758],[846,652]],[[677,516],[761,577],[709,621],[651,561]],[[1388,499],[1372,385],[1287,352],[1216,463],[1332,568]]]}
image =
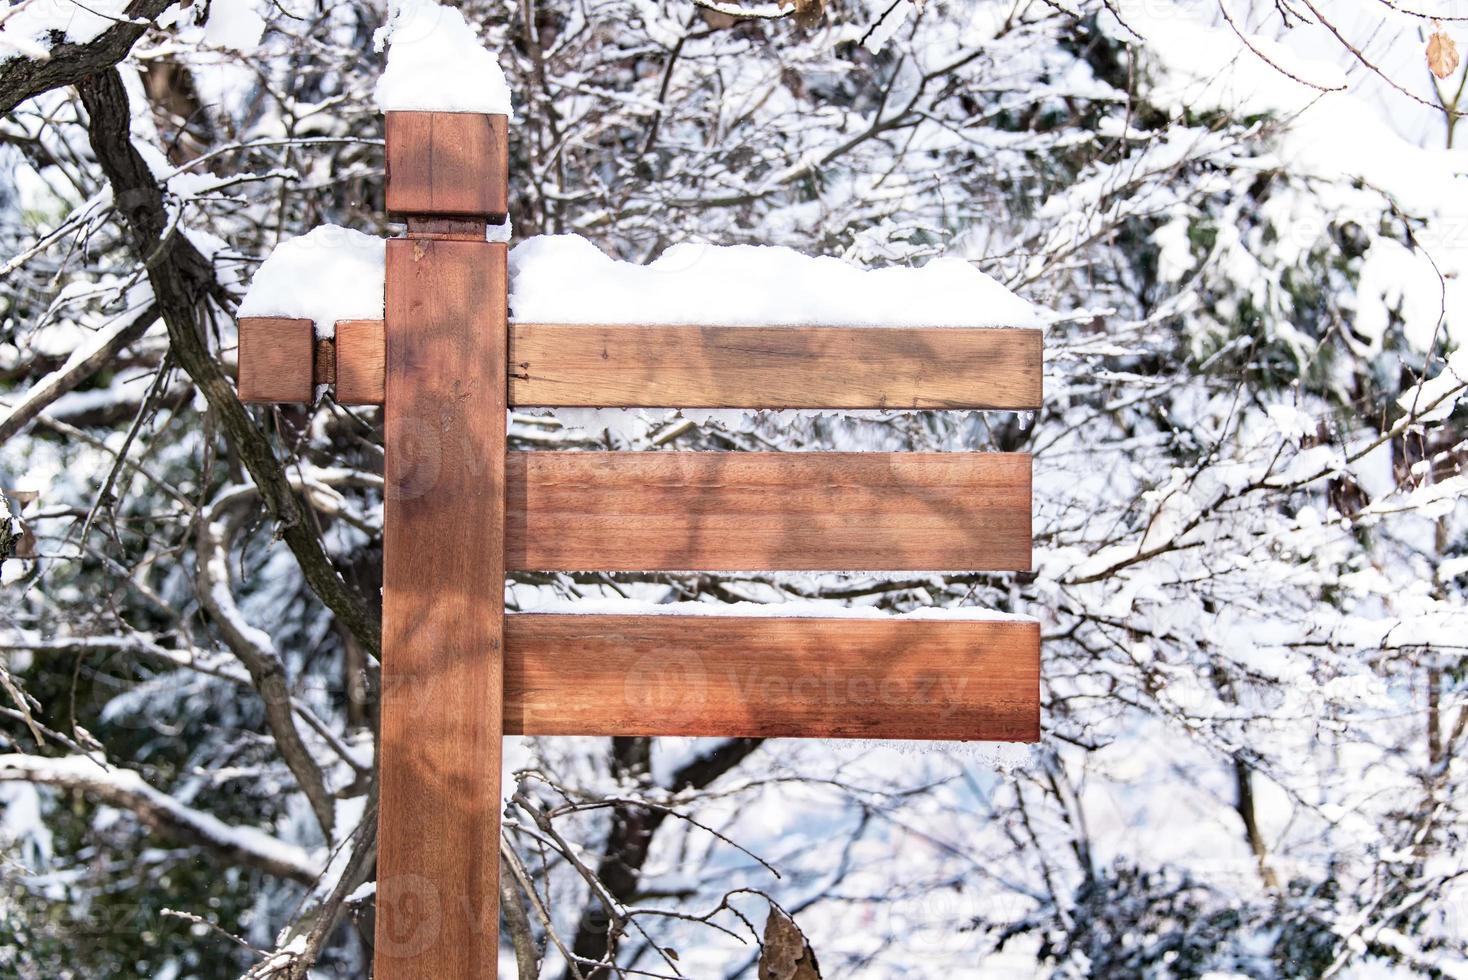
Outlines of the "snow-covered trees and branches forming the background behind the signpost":
{"label": "snow-covered trees and branches forming the background behind the signpost", "polygon": [[[401,232],[411,6],[0,10],[0,976],[371,973],[382,409],[233,377],[277,245]],[[512,414],[1032,453],[1032,572],[505,603],[1032,616],[1042,738],[506,738],[501,976],[1468,977],[1464,4],[451,6],[514,104],[512,246],[960,260],[1045,324],[1033,414]]]}

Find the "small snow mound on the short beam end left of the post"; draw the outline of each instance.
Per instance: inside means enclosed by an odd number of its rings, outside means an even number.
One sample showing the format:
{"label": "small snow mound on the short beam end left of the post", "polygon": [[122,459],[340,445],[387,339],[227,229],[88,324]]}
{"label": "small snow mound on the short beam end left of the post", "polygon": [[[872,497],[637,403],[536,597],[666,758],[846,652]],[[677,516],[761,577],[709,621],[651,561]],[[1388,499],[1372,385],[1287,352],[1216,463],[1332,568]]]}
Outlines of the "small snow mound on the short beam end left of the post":
{"label": "small snow mound on the short beam end left of the post", "polygon": [[241,317],[297,317],[330,337],[338,320],[382,320],[388,246],[336,224],[280,242],[255,271]]}

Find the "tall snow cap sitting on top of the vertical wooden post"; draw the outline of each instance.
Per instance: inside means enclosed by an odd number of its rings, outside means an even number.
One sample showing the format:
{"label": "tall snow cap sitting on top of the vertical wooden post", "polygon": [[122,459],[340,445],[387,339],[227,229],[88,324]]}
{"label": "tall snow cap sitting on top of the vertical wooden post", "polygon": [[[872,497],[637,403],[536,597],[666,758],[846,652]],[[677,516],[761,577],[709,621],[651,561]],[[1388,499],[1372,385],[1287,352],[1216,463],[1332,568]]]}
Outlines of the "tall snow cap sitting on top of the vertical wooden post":
{"label": "tall snow cap sitting on top of the vertical wooden post", "polygon": [[374,43],[379,51],[388,44],[377,109],[514,114],[499,60],[454,7],[395,0]]}

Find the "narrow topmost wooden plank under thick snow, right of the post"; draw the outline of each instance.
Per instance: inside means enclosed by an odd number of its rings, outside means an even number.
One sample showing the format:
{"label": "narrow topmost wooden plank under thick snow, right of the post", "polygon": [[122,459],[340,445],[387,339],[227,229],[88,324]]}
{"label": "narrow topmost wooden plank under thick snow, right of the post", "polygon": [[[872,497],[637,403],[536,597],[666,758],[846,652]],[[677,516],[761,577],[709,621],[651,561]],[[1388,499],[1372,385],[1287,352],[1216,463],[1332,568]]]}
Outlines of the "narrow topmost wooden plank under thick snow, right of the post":
{"label": "narrow topmost wooden plank under thick snow, right of the post", "polygon": [[1039,330],[514,323],[512,405],[1033,409]]}

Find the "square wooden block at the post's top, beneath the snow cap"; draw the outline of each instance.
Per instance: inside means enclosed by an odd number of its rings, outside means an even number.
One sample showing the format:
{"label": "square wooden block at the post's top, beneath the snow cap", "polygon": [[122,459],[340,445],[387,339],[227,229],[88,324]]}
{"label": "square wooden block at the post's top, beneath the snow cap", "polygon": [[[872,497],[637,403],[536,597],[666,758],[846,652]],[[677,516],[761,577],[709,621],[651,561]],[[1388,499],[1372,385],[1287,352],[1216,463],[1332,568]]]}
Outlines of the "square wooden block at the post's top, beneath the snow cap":
{"label": "square wooden block at the post's top, beneath the snow cap", "polygon": [[388,113],[388,211],[498,223],[509,198],[508,123],[482,113]]}

